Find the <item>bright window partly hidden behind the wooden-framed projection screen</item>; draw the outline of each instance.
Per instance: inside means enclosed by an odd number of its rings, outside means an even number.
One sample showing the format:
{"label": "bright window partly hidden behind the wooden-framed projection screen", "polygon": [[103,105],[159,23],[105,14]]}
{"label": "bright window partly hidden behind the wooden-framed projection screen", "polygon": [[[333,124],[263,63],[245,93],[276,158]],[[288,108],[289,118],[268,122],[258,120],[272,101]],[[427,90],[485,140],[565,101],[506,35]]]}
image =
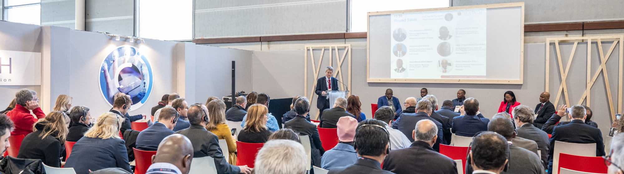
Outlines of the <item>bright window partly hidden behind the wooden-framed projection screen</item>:
{"label": "bright window partly hidden behind the wooden-framed projection screen", "polygon": [[349,32],[366,32],[367,13],[449,7],[449,0],[351,0],[351,29]]}

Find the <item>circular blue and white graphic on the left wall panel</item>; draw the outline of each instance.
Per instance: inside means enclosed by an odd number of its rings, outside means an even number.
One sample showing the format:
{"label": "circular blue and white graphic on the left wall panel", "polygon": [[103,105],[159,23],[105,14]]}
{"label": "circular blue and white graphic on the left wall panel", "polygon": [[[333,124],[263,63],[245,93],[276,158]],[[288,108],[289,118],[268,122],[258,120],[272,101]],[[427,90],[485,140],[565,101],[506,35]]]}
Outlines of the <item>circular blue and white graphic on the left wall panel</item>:
{"label": "circular blue and white graphic on the left wall panel", "polygon": [[112,106],[117,93],[132,99],[131,109],[138,109],[152,93],[152,66],[139,48],[124,45],[115,48],[104,58],[100,66],[100,91]]}

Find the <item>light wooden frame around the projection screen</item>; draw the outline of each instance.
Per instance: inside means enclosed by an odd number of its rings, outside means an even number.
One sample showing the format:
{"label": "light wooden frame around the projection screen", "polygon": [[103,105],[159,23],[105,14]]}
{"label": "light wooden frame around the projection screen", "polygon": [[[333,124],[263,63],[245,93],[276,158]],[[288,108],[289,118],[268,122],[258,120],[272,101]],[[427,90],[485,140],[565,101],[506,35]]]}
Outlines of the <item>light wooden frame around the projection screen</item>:
{"label": "light wooden frame around the projection screen", "polygon": [[[406,79],[406,78],[371,78],[370,77],[370,19],[371,16],[401,14],[411,12],[452,11],[465,9],[494,9],[502,7],[520,7],[520,78],[519,80],[473,80],[473,79]],[[524,83],[524,2],[512,2],[504,4],[484,4],[475,6],[441,7],[431,9],[412,9],[402,11],[368,12],[366,24],[366,81],[369,83],[487,83],[487,84],[522,84]]]}

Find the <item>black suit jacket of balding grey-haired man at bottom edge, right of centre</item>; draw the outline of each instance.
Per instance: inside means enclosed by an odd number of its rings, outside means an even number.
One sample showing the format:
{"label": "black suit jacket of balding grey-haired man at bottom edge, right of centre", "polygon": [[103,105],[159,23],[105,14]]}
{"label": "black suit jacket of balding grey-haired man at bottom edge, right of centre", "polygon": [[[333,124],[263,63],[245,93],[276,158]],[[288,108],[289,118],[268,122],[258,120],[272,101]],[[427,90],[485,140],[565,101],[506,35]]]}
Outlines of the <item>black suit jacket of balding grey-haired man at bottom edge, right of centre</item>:
{"label": "black suit jacket of balding grey-haired man at bottom edge, right of centre", "polygon": [[415,141],[407,148],[391,150],[384,170],[402,173],[456,174],[456,162],[433,150],[427,142]]}

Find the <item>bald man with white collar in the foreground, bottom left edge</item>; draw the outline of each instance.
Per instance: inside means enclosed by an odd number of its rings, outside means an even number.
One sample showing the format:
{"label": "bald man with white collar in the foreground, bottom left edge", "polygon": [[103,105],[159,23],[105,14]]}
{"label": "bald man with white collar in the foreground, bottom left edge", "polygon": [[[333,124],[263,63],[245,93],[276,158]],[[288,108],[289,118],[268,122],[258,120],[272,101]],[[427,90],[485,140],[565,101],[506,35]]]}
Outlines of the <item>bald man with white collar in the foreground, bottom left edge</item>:
{"label": "bald man with white collar in the foreground, bottom left edge", "polygon": [[193,145],[180,134],[168,135],[158,145],[146,174],[187,174],[193,161]]}

